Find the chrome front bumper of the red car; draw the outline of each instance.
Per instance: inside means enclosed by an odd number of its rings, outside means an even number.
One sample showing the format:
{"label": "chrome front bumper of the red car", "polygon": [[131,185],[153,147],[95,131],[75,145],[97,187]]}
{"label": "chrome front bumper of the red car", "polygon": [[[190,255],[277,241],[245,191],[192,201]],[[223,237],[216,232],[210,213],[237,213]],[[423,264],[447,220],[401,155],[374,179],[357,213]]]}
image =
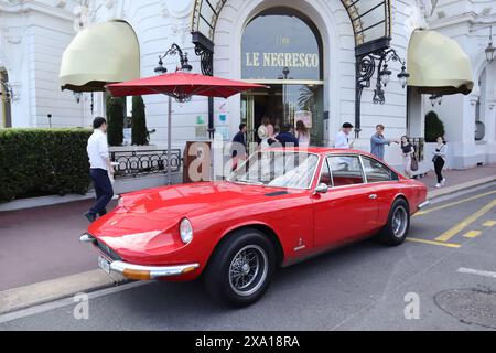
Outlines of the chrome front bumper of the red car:
{"label": "chrome front bumper of the red car", "polygon": [[[96,239],[84,234],[79,240],[82,243],[95,244]],[[164,277],[175,277],[186,275],[200,267],[198,264],[174,265],[174,266],[142,266],[128,264],[125,261],[109,261],[109,270],[120,274],[126,278],[134,280],[154,280]]]}

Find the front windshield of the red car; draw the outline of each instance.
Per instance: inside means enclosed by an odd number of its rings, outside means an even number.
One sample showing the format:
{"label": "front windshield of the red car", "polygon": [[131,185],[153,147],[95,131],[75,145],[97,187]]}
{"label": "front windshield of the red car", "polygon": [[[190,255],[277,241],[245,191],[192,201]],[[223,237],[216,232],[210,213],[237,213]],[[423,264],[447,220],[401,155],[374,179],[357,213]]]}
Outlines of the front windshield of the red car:
{"label": "front windshield of the red car", "polygon": [[273,188],[310,189],[319,157],[289,151],[260,151],[231,176],[231,182]]}

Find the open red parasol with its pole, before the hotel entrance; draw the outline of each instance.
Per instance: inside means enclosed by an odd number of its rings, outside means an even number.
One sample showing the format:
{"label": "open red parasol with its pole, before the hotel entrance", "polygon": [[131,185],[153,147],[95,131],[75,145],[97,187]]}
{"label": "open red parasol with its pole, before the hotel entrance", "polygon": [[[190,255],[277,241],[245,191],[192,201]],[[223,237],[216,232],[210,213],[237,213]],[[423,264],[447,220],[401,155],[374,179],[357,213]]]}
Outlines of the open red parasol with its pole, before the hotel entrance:
{"label": "open red parasol with its pole, before the hotel entrance", "polygon": [[172,98],[186,101],[192,96],[228,98],[245,90],[267,88],[267,86],[250,84],[242,81],[224,79],[213,76],[176,72],[148,78],[134,79],[119,84],[107,85],[114,97],[143,96],[163,94],[169,96],[168,125],[168,176],[171,183],[171,140],[172,140]]}

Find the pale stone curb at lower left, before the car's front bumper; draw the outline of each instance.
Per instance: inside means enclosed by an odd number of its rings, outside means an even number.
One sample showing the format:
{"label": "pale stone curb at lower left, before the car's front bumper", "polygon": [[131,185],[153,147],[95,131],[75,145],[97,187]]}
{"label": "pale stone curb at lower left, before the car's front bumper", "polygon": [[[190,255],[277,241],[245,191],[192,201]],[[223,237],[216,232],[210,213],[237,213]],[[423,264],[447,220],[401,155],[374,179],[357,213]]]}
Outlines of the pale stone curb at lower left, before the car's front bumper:
{"label": "pale stone curb at lower left, before the car's front bumper", "polygon": [[118,275],[93,270],[0,292],[0,315],[127,284]]}

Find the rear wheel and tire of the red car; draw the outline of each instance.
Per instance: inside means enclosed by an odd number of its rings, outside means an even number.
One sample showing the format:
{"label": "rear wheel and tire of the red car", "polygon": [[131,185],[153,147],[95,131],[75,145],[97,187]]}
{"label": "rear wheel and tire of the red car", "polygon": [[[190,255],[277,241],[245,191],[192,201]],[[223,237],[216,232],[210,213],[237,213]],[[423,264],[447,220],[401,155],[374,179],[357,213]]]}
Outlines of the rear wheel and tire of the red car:
{"label": "rear wheel and tire of the red car", "polygon": [[398,246],[405,243],[410,231],[410,207],[403,199],[398,199],[389,212],[388,223],[378,234],[385,245]]}

